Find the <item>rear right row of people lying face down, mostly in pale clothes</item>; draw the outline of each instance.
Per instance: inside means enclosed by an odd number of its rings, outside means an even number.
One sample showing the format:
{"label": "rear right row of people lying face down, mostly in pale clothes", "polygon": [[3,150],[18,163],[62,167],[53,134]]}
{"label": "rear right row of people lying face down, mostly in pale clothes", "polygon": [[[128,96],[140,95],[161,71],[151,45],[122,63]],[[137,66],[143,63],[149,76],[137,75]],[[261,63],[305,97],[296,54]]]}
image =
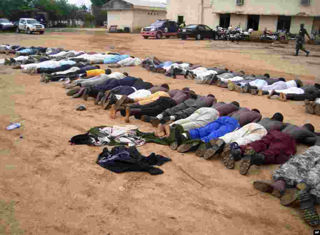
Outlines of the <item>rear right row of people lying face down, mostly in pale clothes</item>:
{"label": "rear right row of people lying face down, mostly in pale clothes", "polygon": [[245,75],[244,71],[232,72],[226,68],[204,68],[201,65],[190,66],[190,64],[182,62],[182,64],[175,62],[174,65],[168,65],[170,63],[165,62],[162,67],[162,64],[150,66],[142,61],[142,66],[149,71],[164,73],[173,78],[176,78],[177,75],[184,75],[185,78],[195,79],[196,83],[225,87],[239,93],[267,95],[268,98],[278,95],[280,101],[304,101],[306,99],[314,101],[316,98],[320,98],[319,84],[315,86],[303,85],[301,80],[286,82],[284,78],[271,79],[267,73],[259,76]]}

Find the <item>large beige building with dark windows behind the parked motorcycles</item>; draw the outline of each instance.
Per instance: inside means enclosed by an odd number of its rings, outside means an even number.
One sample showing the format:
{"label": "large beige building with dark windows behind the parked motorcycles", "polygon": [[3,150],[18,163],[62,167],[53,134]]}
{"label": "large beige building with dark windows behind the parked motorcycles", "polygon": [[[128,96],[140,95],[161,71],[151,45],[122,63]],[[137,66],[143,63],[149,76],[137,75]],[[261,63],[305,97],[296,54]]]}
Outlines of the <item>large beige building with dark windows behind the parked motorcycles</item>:
{"label": "large beige building with dark windows behind the parked motorcycles", "polygon": [[[320,30],[320,0],[167,0],[167,18],[186,24],[310,33]],[[179,23],[179,22],[178,22]]]}

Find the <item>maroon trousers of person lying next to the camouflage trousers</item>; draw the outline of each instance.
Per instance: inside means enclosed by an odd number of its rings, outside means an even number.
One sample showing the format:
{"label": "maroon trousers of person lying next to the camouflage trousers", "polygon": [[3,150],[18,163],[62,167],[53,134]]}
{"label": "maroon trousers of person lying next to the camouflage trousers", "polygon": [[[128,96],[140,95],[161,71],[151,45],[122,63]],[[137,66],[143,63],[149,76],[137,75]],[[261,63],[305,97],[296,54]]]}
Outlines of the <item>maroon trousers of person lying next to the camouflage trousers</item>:
{"label": "maroon trousers of person lying next to the camouflage trousers", "polygon": [[282,164],[297,152],[296,141],[287,133],[271,131],[261,140],[240,146],[242,152],[250,146],[265,156],[264,164]]}

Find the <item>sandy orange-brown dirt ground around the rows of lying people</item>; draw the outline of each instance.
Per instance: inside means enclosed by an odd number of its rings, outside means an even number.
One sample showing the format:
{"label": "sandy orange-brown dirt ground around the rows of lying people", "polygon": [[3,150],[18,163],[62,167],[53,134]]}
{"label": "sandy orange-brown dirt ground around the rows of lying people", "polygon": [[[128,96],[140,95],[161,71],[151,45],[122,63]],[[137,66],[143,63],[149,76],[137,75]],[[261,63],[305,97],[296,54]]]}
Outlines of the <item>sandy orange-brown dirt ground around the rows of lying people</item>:
{"label": "sandy orange-brown dirt ground around the rows of lying people", "polygon": [[[275,47],[249,42],[145,40],[138,34],[104,32],[1,34],[0,43],[155,55],[247,74],[269,72],[271,77],[301,78],[310,84],[320,78],[320,48],[307,45],[309,57],[302,56],[303,52],[293,57],[292,43]],[[285,122],[312,123],[320,131],[319,117],[306,114],[303,102],[280,102],[183,78],[173,80],[141,67],[113,71],[126,71],[154,84],[165,82],[170,88],[212,93],[218,101],[236,100],[241,106],[258,108],[264,117],[281,111]],[[253,166],[242,176],[239,163],[235,170],[228,170],[220,159],[204,160],[194,153],[146,144],[138,148],[142,154],[156,152],[172,159],[161,167],[164,174],[116,174],[95,163],[103,147],[70,146],[68,140],[93,126],[123,125],[120,114],[112,120],[109,111],[94,105],[92,99],[70,98],[61,83],[40,83],[40,76],[25,75],[9,66],[0,66],[0,89],[0,234],[313,234],[314,228],[300,219],[299,208],[281,206],[277,198],[253,188],[255,180],[271,180],[278,165]],[[87,110],[76,111],[78,104],[85,104]],[[5,130],[10,122],[22,126]],[[131,124],[141,131],[155,130],[133,117]],[[304,149],[299,146],[298,152]]]}

